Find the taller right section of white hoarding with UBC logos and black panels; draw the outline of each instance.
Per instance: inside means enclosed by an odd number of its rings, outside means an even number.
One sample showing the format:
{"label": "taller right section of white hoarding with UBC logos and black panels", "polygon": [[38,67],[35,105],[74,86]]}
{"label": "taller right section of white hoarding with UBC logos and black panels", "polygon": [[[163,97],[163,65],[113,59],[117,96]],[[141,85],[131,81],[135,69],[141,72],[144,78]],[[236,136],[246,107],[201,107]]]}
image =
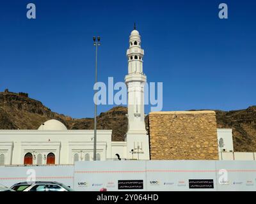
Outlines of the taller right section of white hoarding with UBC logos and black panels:
{"label": "taller right section of white hoarding with UBC logos and black panels", "polygon": [[[76,191],[256,191],[255,161],[105,161],[75,164]],[[120,180],[143,182],[121,190]],[[191,180],[203,182],[191,188]],[[205,184],[205,180],[210,180]],[[84,184],[81,184],[83,182]],[[190,185],[189,185],[190,183]],[[192,183],[192,184],[191,184]],[[128,186],[128,185],[127,185]]]}

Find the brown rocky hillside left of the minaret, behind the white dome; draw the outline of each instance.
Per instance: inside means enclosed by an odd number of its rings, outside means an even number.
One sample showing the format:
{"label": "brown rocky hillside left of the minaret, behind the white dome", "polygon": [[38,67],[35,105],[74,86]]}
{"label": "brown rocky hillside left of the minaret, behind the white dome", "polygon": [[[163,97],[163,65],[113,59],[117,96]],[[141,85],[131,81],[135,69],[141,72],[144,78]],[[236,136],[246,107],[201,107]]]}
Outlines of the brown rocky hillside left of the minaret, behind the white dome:
{"label": "brown rocky hillside left of the minaret, behind the white dome", "polygon": [[[123,141],[127,131],[127,108],[117,106],[97,117],[97,129],[112,129],[112,140]],[[51,112],[40,101],[24,93],[0,92],[0,129],[37,129],[43,122],[57,119],[68,129],[93,129],[94,119],[72,119]]]}

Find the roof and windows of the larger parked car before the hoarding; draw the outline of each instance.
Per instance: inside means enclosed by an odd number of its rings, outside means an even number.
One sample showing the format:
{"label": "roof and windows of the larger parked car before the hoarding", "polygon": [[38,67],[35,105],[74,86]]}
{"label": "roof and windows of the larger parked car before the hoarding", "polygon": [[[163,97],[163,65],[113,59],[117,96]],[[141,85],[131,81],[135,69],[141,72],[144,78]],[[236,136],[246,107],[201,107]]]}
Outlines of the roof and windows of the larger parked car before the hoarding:
{"label": "roof and windows of the larger parked car before the hoarding", "polygon": [[74,191],[70,187],[59,182],[47,181],[20,182],[14,184],[11,189],[14,191]]}

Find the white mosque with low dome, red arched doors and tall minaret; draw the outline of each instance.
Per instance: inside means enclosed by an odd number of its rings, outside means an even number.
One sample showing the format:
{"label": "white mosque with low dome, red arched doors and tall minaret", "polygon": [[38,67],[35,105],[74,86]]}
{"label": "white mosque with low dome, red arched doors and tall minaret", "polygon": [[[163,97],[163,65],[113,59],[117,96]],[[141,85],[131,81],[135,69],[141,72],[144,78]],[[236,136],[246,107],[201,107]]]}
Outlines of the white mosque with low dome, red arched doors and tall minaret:
{"label": "white mosque with low dome, red arched doors and tall minaret", "polygon": [[[150,159],[145,129],[141,38],[131,32],[127,50],[128,131],[125,142],[112,142],[112,130],[97,130],[97,160]],[[0,165],[74,164],[93,160],[93,130],[70,130],[58,120],[48,120],[37,130],[0,130]]]}

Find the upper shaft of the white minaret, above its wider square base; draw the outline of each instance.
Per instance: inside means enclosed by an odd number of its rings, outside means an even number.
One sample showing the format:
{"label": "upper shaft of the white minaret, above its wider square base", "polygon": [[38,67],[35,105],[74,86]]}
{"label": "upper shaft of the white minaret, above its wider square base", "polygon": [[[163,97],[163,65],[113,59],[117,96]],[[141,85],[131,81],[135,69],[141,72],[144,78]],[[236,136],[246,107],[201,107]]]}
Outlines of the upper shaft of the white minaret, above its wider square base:
{"label": "upper shaft of the white minaret, above its wider square base", "polygon": [[141,48],[140,33],[134,30],[129,37],[129,48],[126,52],[128,60],[128,75],[125,84],[128,92],[128,124],[127,133],[147,135],[144,114],[144,84],[147,77],[143,73],[144,50]]}

